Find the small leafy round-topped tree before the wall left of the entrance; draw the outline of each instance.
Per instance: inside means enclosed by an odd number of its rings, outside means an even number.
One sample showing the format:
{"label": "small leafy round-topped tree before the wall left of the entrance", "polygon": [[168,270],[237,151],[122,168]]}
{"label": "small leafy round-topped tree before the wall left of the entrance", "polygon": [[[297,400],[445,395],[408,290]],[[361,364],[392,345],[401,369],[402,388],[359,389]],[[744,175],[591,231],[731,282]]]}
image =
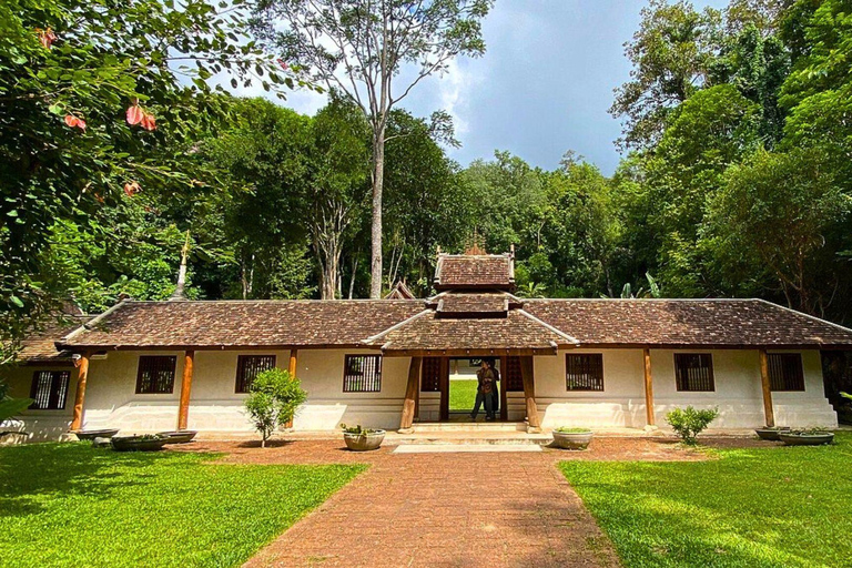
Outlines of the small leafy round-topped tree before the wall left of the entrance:
{"label": "small leafy round-topped tree before the wall left of the entrance", "polygon": [[298,379],[286,371],[272,368],[255,377],[245,409],[261,433],[261,447],[266,447],[266,440],[278,426],[293,419],[306,398],[307,393],[302,390]]}

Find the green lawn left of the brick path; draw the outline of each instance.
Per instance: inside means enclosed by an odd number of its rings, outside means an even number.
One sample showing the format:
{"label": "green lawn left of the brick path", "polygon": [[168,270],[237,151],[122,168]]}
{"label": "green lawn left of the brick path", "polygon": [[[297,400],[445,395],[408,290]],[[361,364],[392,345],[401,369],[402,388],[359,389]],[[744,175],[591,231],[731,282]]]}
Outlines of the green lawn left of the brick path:
{"label": "green lawn left of the brick path", "polygon": [[0,565],[239,565],[364,469],[216,458],[0,448]]}

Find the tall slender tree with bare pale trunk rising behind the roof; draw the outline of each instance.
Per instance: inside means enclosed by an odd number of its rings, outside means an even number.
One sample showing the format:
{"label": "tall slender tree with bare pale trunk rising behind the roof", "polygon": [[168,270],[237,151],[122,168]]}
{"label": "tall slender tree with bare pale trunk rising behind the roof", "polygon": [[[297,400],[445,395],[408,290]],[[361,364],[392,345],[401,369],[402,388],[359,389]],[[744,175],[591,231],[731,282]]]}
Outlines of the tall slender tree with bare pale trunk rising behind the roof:
{"label": "tall slender tree with bare pale trunk rising behind the roof", "polygon": [[[382,294],[382,202],[389,112],[425,78],[445,71],[457,55],[485,52],[480,22],[491,4],[493,0],[257,3],[256,33],[312,80],[345,93],[369,122],[371,297]],[[447,118],[445,113],[436,114],[435,128],[446,129]]]}

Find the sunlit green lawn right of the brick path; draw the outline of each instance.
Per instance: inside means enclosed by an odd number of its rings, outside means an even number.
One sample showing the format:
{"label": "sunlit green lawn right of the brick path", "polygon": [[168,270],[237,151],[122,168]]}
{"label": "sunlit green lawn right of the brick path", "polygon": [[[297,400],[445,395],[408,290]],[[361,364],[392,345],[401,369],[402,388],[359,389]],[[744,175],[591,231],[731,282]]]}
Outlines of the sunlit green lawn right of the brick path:
{"label": "sunlit green lawn right of the brick path", "polygon": [[708,462],[562,462],[628,567],[849,566],[852,434]]}

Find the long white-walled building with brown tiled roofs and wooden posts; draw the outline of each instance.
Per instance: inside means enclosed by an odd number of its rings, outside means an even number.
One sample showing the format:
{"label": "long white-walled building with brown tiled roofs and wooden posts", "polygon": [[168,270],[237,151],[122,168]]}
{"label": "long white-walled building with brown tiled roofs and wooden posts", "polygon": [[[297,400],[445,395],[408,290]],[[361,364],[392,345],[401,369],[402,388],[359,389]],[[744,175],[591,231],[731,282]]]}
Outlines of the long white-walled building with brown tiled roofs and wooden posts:
{"label": "long white-walled building with brown tiled roofs and wooden posts", "polygon": [[852,329],[761,300],[520,298],[513,254],[440,254],[434,287],[427,300],[121,302],[33,338],[12,395],[37,400],[21,418],[39,439],[233,434],[251,430],[253,377],[277,366],[308,393],[294,429],[406,430],[454,418],[454,359],[494,357],[500,418],[530,430],[645,428],[687,405],[718,407],[718,428],[836,426],[820,351],[852,348]]}

